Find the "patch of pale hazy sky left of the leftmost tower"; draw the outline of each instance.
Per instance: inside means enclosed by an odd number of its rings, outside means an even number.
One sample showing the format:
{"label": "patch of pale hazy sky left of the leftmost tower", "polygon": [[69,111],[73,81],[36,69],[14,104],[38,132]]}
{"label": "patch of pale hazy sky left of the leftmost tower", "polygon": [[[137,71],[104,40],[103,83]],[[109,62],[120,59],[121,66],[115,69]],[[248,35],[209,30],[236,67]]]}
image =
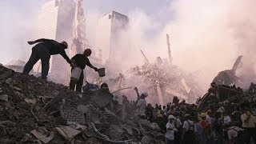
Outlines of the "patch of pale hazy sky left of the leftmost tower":
{"label": "patch of pale hazy sky left of the leftmost tower", "polygon": [[26,42],[35,38],[37,30],[38,7],[33,5],[34,2],[0,2],[0,63],[29,58],[31,48]]}

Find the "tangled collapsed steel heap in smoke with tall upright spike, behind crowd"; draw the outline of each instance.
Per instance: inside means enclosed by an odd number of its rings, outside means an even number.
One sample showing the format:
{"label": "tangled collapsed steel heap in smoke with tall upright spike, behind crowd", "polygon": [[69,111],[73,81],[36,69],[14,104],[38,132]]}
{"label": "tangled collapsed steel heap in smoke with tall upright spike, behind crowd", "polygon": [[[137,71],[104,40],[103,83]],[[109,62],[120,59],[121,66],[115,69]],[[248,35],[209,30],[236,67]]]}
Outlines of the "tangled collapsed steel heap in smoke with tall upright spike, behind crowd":
{"label": "tangled collapsed steel heap in smoke with tall upright spike, behind crowd", "polygon": [[[113,83],[112,89],[130,88],[130,86],[136,84],[140,90],[149,93],[147,102],[159,103],[162,106],[166,105],[167,102],[172,102],[174,97],[192,103],[198,96],[202,95],[202,90],[194,76],[172,64],[168,34],[166,34],[166,39],[169,61],[158,57],[154,63],[151,63],[141,50],[145,64],[135,66],[124,74],[119,74],[118,78],[110,81],[110,83]],[[124,94],[127,94],[131,99],[135,99],[132,97],[134,92],[131,90],[126,90]]]}

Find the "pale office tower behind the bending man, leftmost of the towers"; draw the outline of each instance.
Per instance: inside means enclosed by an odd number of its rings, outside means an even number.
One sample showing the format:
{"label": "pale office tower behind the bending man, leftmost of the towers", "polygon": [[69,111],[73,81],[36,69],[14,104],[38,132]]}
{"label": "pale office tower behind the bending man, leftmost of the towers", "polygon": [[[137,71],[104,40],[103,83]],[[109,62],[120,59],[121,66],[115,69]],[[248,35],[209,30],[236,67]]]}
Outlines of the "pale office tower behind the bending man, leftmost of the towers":
{"label": "pale office tower behind the bending man, leftmost of the towers", "polygon": [[[54,39],[58,42],[71,42],[75,12],[74,0],[50,0],[42,5],[38,16],[38,38]],[[66,50],[68,54],[68,50]],[[38,68],[36,68],[38,69]],[[65,83],[69,64],[61,55],[50,58],[50,74],[54,82]]]}

